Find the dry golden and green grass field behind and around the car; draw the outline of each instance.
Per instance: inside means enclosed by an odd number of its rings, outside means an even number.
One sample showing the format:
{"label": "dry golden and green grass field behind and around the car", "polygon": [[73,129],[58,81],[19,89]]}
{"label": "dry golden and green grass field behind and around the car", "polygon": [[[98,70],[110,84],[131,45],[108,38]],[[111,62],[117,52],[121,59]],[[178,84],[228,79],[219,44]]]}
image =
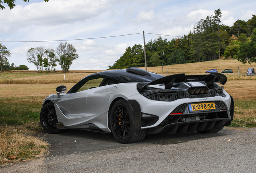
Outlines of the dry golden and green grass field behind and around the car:
{"label": "dry golden and green grass field behind and around the car", "polygon": [[[239,66],[239,77],[237,74]],[[164,75],[185,73],[205,74],[206,70],[217,69],[218,72],[231,68],[233,74],[225,74],[227,83],[225,90],[235,100],[235,118],[231,124],[233,127],[255,127],[256,125],[256,75],[246,76],[247,69],[256,68],[256,63],[242,64],[237,60],[215,60],[191,64],[177,64],[163,66]],[[142,68],[145,69],[145,68]],[[148,71],[162,74],[162,67],[148,67]],[[70,70],[69,73],[57,71],[56,73],[38,73],[37,71],[4,71],[0,73],[0,164],[2,161],[15,159],[33,158],[41,153],[40,146],[46,146],[41,139],[33,139],[27,146],[24,143],[17,143],[18,148],[26,151],[6,151],[7,148],[15,146],[8,145],[8,137],[21,139],[22,134],[40,131],[37,127],[39,114],[43,99],[50,94],[56,94],[56,87],[65,85],[69,90],[76,82],[92,74],[103,70]],[[21,135],[21,136],[20,136]],[[23,140],[23,138],[22,138]],[[35,141],[34,141],[35,140]],[[34,141],[34,142],[33,142]],[[3,144],[3,145],[2,145]],[[13,144],[13,143],[12,143]],[[23,145],[20,147],[18,145]],[[32,147],[31,147],[32,146]],[[3,152],[6,151],[6,152]],[[21,153],[26,152],[26,155]],[[29,154],[31,153],[31,154]],[[17,158],[16,158],[17,156]]]}

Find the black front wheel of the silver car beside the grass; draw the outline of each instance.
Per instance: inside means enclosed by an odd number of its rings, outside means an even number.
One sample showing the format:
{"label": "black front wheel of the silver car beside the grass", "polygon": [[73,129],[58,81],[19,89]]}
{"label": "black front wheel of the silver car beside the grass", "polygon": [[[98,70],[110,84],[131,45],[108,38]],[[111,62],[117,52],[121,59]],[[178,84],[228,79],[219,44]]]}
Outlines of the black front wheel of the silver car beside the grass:
{"label": "black front wheel of the silver car beside the grass", "polygon": [[58,120],[57,120],[56,110],[52,102],[47,103],[41,109],[40,121],[41,121],[41,125],[43,126],[43,129],[45,129],[45,131],[49,133],[57,134],[57,133],[63,132],[62,129],[56,128]]}

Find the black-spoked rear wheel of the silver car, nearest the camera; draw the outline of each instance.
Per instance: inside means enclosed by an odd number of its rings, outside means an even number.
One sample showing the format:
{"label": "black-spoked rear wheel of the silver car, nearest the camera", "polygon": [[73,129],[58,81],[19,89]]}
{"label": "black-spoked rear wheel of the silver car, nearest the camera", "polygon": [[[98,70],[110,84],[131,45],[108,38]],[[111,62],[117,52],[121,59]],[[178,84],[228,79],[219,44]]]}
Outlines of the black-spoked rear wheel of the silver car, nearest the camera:
{"label": "black-spoked rear wheel of the silver car, nearest the camera", "polygon": [[126,100],[116,101],[109,115],[111,132],[119,143],[135,143],[145,138],[147,130],[135,131],[134,115]]}

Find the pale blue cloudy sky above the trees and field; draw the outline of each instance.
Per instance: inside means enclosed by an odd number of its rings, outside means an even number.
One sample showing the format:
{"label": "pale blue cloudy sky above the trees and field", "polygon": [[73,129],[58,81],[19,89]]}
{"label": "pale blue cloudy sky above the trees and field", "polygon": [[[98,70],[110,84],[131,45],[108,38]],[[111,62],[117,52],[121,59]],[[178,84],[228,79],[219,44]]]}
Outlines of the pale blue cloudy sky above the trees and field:
{"label": "pale blue cloudy sky above the trees and field", "polygon": [[[143,31],[154,33],[145,34],[145,43],[159,36],[155,34],[171,35],[161,37],[172,40],[187,35],[219,8],[221,24],[228,26],[256,14],[255,0],[16,0],[15,4],[12,10],[6,4],[0,10],[0,43],[10,50],[10,64],[25,64],[30,70],[37,68],[27,61],[27,51],[38,46],[56,50],[60,42],[68,42],[79,56],[70,70],[105,70],[127,47],[143,44]],[[45,40],[69,41],[14,42]]]}

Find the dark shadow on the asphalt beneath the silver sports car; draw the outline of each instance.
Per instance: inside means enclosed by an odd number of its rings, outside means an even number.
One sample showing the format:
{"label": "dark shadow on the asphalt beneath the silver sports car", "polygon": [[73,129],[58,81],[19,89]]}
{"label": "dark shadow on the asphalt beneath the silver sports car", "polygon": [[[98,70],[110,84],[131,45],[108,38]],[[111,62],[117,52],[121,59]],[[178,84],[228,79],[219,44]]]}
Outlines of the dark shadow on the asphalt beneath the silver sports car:
{"label": "dark shadow on the asphalt beneath the silver sports car", "polygon": [[94,153],[107,151],[108,149],[147,147],[154,145],[171,145],[176,143],[184,143],[193,140],[200,140],[223,135],[237,133],[235,129],[224,128],[218,133],[200,134],[176,133],[176,134],[157,134],[147,135],[145,139],[138,143],[121,144],[118,143],[111,133],[97,133],[78,129],[65,130],[64,133],[50,134],[42,131],[38,137],[43,137],[50,144],[50,154],[52,156],[64,156],[76,153]]}

